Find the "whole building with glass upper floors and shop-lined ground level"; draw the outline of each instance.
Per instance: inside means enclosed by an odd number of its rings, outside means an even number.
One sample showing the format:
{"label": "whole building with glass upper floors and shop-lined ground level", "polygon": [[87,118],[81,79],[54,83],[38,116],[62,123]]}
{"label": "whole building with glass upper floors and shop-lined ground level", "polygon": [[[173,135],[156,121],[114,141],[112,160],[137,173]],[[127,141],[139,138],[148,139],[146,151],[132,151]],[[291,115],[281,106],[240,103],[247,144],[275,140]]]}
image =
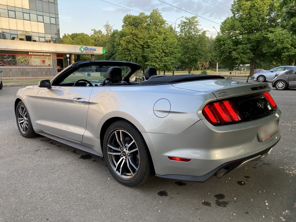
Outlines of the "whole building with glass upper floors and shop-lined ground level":
{"label": "whole building with glass upper floors and shop-lined ground level", "polygon": [[74,55],[103,53],[102,47],[60,44],[59,33],[57,0],[0,0],[2,76],[54,76]]}

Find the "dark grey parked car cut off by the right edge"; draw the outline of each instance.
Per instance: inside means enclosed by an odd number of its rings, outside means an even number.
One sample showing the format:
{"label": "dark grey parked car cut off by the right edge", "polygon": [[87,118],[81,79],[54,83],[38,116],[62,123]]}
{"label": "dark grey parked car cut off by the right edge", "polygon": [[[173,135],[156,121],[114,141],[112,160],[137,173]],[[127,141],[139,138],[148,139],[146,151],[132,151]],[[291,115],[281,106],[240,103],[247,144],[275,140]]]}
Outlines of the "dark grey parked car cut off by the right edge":
{"label": "dark grey parked car cut off by the right edge", "polygon": [[296,88],[296,68],[276,75],[271,86],[277,90]]}

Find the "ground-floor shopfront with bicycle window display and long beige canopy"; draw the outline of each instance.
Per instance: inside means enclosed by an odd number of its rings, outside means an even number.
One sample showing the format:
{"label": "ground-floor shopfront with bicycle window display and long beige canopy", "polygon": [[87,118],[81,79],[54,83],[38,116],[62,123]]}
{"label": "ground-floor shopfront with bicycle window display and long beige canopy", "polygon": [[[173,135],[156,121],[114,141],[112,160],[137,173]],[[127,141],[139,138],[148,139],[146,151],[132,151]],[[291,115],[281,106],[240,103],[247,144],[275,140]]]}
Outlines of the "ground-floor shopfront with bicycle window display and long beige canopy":
{"label": "ground-floor shopfront with bicycle window display and long beige canopy", "polygon": [[[74,58],[103,54],[103,47],[49,44],[0,39],[0,67],[3,77],[55,76]],[[66,60],[66,61],[65,61]]]}

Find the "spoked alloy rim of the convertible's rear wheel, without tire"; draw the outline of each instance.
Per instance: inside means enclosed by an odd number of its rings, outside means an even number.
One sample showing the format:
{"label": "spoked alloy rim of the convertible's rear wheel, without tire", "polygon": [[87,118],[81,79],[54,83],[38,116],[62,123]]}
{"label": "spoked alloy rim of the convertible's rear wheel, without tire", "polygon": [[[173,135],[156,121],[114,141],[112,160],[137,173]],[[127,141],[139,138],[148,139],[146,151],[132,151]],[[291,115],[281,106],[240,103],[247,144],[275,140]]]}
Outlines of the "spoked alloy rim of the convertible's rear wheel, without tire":
{"label": "spoked alloy rim of the convertible's rear wheel, without tire", "polygon": [[108,159],[121,178],[133,178],[139,169],[139,150],[133,137],[124,130],[114,131],[107,145]]}

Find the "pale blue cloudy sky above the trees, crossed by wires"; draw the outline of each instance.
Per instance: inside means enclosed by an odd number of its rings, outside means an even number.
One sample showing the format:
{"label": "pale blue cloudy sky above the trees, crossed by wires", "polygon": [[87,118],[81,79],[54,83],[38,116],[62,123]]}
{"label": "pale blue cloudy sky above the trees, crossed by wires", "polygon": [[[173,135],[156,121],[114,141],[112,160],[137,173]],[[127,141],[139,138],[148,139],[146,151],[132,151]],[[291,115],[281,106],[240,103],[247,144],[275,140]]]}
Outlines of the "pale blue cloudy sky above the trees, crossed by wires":
{"label": "pale blue cloudy sky above the trees, crossed by wires", "polygon": [[91,34],[91,29],[104,33],[106,22],[113,30],[121,30],[125,15],[140,12],[149,15],[153,9],[158,9],[173,28],[176,22],[176,31],[184,20],[180,17],[197,16],[198,28],[207,30],[207,36],[215,37],[221,22],[232,15],[232,3],[232,0],[58,0],[60,35]]}

